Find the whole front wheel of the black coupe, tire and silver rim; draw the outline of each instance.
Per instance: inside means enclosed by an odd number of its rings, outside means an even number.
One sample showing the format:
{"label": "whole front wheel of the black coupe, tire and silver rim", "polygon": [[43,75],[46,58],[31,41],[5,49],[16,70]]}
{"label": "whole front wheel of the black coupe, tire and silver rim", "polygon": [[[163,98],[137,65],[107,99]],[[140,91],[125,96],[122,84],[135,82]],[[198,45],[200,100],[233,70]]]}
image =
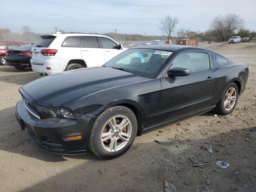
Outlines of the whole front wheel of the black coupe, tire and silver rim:
{"label": "whole front wheel of the black coupe, tire and silver rim", "polygon": [[137,129],[136,116],[129,108],[124,106],[108,108],[94,122],[88,147],[102,159],[116,158],[132,146]]}

